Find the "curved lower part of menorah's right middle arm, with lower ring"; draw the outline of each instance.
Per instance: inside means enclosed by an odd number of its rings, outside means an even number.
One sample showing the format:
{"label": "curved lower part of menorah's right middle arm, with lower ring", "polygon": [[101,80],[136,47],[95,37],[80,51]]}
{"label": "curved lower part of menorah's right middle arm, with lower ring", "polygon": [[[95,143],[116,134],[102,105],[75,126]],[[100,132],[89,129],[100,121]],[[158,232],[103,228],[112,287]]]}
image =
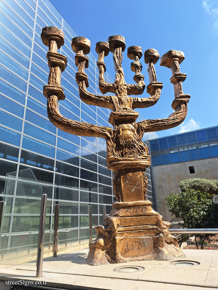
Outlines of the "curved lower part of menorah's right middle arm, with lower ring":
{"label": "curved lower part of menorah's right middle arm, with lower ring", "polygon": [[136,108],[148,108],[157,103],[163,85],[159,82],[153,82],[147,86],[147,93],[151,95],[148,98],[133,98],[133,110]]}

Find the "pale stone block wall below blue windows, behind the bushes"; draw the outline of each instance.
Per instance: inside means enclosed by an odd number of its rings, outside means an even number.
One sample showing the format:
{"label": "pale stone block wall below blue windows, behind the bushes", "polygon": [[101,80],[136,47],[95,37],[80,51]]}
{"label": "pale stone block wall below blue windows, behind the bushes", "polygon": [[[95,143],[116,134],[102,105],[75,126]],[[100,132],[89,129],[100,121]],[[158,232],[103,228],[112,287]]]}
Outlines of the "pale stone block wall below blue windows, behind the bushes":
{"label": "pale stone block wall below blue windows, behind the bushes", "polygon": [[[194,166],[195,173],[190,174],[189,166]],[[153,174],[158,213],[163,216],[164,221],[170,222],[174,216],[167,209],[165,197],[172,191],[178,193],[177,184],[184,179],[218,179],[218,157],[154,166]]]}

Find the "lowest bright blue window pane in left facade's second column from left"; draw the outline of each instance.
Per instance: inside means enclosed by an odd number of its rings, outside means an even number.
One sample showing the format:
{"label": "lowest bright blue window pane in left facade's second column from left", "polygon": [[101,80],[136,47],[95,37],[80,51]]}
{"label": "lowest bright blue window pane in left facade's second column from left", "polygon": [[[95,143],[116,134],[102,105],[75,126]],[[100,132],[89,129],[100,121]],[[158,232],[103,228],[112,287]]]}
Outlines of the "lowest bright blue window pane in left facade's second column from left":
{"label": "lowest bright blue window pane in left facade's second column from left", "polygon": [[51,158],[55,157],[55,147],[49,146],[40,141],[33,140],[32,138],[26,136],[23,136],[22,148],[39,154],[47,155]]}

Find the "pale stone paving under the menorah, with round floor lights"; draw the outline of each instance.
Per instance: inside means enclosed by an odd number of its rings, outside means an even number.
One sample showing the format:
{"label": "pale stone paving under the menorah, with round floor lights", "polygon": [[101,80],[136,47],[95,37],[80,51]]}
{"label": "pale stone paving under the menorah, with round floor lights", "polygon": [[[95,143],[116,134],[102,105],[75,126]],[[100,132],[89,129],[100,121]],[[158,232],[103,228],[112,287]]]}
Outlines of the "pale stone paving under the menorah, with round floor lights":
{"label": "pale stone paving under the menorah, with round floor lights", "polygon": [[[218,251],[183,250],[186,258],[200,263],[199,266],[179,267],[171,265],[172,261],[135,261],[119,264],[90,266],[85,258],[88,253],[80,249],[72,253],[46,257],[43,259],[43,278],[56,287],[65,289],[178,289],[202,290],[218,288]],[[115,272],[121,266],[141,266],[143,271],[134,273]],[[5,279],[35,280],[36,261],[30,261],[0,269],[0,281]],[[38,278],[39,279],[39,278]],[[103,284],[102,284],[103,283]],[[59,286],[58,286],[59,285]],[[67,285],[67,286],[64,286]],[[0,284],[1,286],[1,284]],[[73,288],[77,287],[77,288]],[[80,287],[80,288],[79,288]],[[82,288],[81,288],[82,287]],[[103,287],[103,288],[102,288]],[[3,288],[0,287],[3,290]],[[9,289],[9,288],[8,288]],[[6,290],[8,290],[6,289]]]}

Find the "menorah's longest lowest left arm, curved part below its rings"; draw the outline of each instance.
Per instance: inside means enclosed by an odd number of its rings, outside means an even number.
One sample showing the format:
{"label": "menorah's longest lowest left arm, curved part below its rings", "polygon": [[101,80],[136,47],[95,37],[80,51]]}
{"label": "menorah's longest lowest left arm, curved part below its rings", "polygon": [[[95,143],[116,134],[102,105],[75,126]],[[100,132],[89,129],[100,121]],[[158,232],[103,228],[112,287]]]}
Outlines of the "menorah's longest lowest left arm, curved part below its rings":
{"label": "menorah's longest lowest left arm, curved part below its rings", "polygon": [[48,96],[47,113],[51,123],[67,133],[79,136],[100,137],[104,139],[110,138],[112,135],[112,129],[110,127],[101,127],[85,122],[78,122],[62,116],[58,108],[57,95]]}

